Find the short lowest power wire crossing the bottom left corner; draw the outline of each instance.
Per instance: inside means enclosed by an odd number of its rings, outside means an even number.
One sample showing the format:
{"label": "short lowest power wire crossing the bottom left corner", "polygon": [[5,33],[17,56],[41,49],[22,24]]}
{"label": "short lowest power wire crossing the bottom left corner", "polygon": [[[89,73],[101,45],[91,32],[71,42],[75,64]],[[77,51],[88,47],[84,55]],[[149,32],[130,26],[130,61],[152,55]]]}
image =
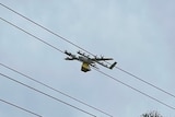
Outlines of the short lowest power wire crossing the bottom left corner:
{"label": "short lowest power wire crossing the bottom left corner", "polygon": [[4,100],[1,100],[1,98],[0,98],[0,102],[5,103],[5,104],[8,104],[8,105],[11,105],[11,106],[13,106],[13,107],[16,107],[16,108],[19,108],[19,109],[21,109],[21,110],[24,110],[24,112],[26,112],[26,113],[30,113],[30,114],[32,114],[32,115],[34,115],[34,116],[43,117],[43,116],[40,116],[40,115],[38,115],[38,114],[36,114],[36,113],[33,113],[33,112],[31,112],[31,110],[28,110],[28,109],[25,109],[25,108],[20,107],[20,106],[15,105],[15,104],[9,103],[8,101],[4,101]]}

